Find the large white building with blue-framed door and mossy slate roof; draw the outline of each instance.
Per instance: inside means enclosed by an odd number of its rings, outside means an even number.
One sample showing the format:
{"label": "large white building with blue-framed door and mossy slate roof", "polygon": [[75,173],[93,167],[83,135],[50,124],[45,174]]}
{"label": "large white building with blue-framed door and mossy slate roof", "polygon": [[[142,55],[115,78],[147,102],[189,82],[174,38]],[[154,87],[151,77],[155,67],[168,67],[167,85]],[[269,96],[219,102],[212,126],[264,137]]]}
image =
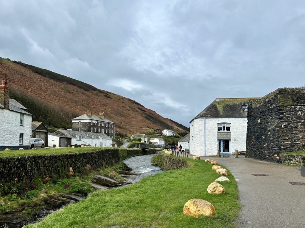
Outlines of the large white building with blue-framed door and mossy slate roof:
{"label": "large white building with blue-framed door and mossy slate roof", "polygon": [[242,104],[257,98],[217,98],[190,121],[190,153],[197,156],[246,150],[247,110]]}

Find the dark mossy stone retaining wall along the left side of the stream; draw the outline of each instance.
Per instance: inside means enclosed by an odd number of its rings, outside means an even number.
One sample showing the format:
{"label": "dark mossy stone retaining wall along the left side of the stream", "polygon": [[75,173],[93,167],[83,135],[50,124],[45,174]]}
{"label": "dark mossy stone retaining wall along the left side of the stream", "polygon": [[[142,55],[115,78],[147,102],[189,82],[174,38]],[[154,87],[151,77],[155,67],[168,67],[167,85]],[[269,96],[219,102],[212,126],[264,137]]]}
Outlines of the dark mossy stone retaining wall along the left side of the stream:
{"label": "dark mossy stone retaining wall along the left side of the stream", "polygon": [[0,157],[0,184],[14,181],[32,181],[36,177],[64,177],[70,167],[74,173],[83,173],[86,165],[92,169],[110,166],[131,156],[154,153],[141,149],[103,149],[84,153]]}

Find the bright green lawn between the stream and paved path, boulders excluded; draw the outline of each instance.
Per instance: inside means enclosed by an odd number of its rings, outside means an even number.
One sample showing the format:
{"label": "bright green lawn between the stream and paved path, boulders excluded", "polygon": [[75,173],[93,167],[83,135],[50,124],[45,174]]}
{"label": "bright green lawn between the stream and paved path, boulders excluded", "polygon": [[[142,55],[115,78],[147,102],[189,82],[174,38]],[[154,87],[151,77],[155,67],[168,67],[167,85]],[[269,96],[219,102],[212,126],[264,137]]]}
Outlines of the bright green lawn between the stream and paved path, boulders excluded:
{"label": "bright green lawn between the stream and paved path, boulders excluded", "polygon": [[[203,160],[189,162],[192,166],[188,168],[163,171],[123,188],[93,192],[25,227],[235,227],[232,220],[240,206],[232,174],[228,174],[230,182],[221,182],[224,195],[209,195],[206,189],[219,175]],[[216,215],[198,219],[184,216],[183,206],[192,198],[212,203]]]}

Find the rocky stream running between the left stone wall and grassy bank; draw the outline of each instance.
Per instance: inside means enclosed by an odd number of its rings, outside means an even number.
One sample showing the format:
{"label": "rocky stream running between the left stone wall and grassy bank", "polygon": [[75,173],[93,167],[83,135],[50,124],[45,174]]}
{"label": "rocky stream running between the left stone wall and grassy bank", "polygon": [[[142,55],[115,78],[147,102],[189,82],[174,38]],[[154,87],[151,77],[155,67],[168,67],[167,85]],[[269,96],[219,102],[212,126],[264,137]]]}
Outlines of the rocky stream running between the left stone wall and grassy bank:
{"label": "rocky stream running between the left stone wall and grassy bank", "polygon": [[[130,168],[133,173],[137,175],[122,175],[126,180],[123,185],[132,184],[140,181],[142,177],[147,177],[161,172],[159,167],[153,166],[150,162],[154,154],[135,156],[123,160],[123,162]],[[97,175],[99,176],[99,175]],[[101,177],[101,176],[99,176]],[[107,178],[108,179],[108,178]],[[109,179],[111,180],[111,179]],[[114,181],[114,180],[113,180]],[[91,183],[92,187],[98,186],[97,189],[108,189],[107,187]],[[33,214],[23,214],[22,211],[0,212],[0,228],[22,228],[24,225],[33,224],[44,219],[45,216],[56,212],[58,209],[69,203],[76,203],[86,196],[78,193],[63,194],[61,196],[49,196],[45,204],[41,206],[38,211]]]}

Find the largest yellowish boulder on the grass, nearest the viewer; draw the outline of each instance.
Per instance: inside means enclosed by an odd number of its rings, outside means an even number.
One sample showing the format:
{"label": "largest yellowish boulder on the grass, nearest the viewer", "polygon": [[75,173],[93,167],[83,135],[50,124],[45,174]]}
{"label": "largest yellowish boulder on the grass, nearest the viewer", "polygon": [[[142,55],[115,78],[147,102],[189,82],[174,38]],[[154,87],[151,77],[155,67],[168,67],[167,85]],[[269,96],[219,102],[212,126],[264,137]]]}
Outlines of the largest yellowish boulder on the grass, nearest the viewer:
{"label": "largest yellowish boulder on the grass, nearest the viewer", "polygon": [[190,199],[183,207],[183,214],[194,216],[195,218],[199,215],[210,217],[215,215],[215,208],[213,204],[203,199]]}

